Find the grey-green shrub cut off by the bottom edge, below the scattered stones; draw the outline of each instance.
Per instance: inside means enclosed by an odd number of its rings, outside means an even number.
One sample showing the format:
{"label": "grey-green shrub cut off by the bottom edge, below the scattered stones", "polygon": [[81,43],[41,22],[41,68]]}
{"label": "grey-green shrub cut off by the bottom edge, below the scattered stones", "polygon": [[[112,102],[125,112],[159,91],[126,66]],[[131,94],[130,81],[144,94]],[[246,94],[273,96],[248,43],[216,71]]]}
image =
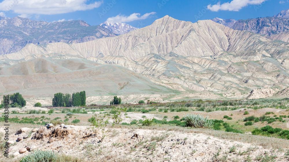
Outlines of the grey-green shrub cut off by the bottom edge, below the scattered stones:
{"label": "grey-green shrub cut off by the bottom edge, below the scattered stones", "polygon": [[53,162],[56,161],[56,158],[57,154],[53,151],[35,150],[23,157],[20,162]]}

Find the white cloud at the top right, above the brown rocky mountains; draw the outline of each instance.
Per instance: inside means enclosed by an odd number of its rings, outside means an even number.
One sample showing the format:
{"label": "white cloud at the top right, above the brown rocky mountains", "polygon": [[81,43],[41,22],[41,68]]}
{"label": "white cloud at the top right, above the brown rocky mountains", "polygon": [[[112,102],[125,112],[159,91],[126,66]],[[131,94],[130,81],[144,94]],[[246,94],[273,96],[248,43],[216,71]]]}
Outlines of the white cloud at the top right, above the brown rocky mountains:
{"label": "white cloud at the top right, above the brown rocky mountains", "polygon": [[260,5],[267,0],[233,0],[231,2],[221,4],[218,2],[216,5],[208,5],[207,8],[211,11],[239,11],[248,5]]}

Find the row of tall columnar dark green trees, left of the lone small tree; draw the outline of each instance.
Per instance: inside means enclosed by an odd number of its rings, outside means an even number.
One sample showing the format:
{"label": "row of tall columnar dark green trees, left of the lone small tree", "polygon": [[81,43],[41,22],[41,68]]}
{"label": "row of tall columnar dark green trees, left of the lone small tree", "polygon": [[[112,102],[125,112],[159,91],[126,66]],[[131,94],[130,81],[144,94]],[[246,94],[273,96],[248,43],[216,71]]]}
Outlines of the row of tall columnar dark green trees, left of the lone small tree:
{"label": "row of tall columnar dark green trees, left of the lone small tree", "polygon": [[57,93],[54,94],[52,105],[54,107],[72,107],[72,106],[85,106],[86,95],[85,91],[76,92],[71,94]]}

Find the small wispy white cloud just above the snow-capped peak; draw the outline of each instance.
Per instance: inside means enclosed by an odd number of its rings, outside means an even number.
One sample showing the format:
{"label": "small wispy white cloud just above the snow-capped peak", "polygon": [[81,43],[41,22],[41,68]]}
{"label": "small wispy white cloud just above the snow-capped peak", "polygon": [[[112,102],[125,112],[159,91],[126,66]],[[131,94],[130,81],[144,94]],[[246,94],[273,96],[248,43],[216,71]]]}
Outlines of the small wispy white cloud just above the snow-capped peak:
{"label": "small wispy white cloud just above the snow-capped peak", "polygon": [[156,14],[156,12],[146,13],[142,16],[140,16],[139,13],[133,13],[129,16],[124,16],[124,15],[119,14],[115,17],[108,18],[106,21],[108,21],[108,22],[131,22],[134,20],[144,20],[153,14]]}

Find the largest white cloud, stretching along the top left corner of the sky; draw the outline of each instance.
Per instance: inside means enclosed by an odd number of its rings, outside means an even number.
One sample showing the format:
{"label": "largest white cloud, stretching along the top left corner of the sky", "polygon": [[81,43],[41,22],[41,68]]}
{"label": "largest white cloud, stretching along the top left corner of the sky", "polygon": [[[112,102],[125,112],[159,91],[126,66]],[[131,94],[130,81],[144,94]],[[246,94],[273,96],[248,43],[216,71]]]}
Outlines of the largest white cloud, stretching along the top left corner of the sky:
{"label": "largest white cloud, stretching along the top left corner of the sky", "polygon": [[14,11],[17,14],[64,14],[85,11],[99,7],[103,1],[86,3],[88,0],[4,0],[0,11]]}

